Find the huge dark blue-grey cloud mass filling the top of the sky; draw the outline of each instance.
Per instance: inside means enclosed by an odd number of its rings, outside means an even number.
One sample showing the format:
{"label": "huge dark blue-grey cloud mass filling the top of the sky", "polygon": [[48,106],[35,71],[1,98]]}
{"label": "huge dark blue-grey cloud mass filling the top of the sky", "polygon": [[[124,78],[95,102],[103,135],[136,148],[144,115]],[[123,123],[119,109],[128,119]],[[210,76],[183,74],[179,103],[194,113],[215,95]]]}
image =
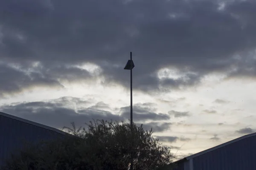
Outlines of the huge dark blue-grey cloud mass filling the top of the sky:
{"label": "huge dark blue-grey cloud mass filling the top of the sky", "polygon": [[[215,71],[232,70],[230,77],[255,77],[256,59],[250,51],[256,48],[256,2],[230,1],[223,9],[219,3],[1,0],[3,65],[19,63],[30,70],[33,66],[27,63],[39,61],[42,67],[28,76],[2,65],[0,77],[5,78],[0,93],[87,77],[86,71],[67,67],[84,62],[99,65],[108,81],[128,87],[129,73],[123,67],[129,51],[135,54],[137,90],[186,88]],[[161,68],[175,68],[177,76],[170,71],[170,76],[159,79]]]}

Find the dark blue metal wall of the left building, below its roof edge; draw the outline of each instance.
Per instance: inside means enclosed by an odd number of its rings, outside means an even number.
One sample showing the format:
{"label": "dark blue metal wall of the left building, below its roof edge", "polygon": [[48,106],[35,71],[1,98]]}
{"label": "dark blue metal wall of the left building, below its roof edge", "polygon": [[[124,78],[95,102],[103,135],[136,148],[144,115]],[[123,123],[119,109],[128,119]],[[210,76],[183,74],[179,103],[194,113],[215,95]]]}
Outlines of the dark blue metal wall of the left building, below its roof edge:
{"label": "dark blue metal wall of the left building, below its roof edge", "polygon": [[58,136],[64,134],[0,115],[0,167],[12,153],[22,148],[23,142],[35,143]]}

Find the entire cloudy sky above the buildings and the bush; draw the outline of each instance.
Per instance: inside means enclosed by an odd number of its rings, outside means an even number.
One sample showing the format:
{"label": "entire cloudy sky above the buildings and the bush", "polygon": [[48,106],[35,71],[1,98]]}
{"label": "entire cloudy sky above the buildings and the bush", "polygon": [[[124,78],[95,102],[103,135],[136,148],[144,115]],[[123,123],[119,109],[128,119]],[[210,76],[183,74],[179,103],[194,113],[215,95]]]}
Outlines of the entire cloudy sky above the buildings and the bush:
{"label": "entire cloudy sky above the buildings and the bush", "polygon": [[0,111],[134,122],[177,159],[256,130],[255,0],[1,0]]}

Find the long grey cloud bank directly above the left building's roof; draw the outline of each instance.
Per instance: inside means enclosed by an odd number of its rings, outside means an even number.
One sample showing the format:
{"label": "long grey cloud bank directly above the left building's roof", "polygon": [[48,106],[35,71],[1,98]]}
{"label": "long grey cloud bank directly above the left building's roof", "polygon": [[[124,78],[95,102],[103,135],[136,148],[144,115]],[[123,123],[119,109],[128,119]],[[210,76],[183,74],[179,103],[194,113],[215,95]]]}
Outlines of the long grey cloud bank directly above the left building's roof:
{"label": "long grey cloud bank directly above the left building's roof", "polygon": [[[67,98],[65,99],[67,100]],[[70,100],[70,102],[73,102],[72,99]],[[122,117],[109,111],[90,107],[76,111],[67,103],[59,103],[59,101],[14,103],[12,105],[3,105],[0,107],[0,110],[23,119],[56,128],[67,126],[70,122],[75,122],[76,125],[80,126],[92,119],[122,120]]]}

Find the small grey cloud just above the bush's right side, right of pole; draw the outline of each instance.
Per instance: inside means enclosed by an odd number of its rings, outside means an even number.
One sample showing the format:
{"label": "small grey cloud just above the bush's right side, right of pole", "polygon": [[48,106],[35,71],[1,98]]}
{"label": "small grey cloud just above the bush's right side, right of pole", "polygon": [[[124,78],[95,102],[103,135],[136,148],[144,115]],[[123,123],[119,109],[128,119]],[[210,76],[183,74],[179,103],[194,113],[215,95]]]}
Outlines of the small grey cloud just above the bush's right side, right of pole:
{"label": "small grey cloud just above the bush's right side, right of pole", "polygon": [[[137,123],[140,124],[140,123]],[[143,123],[143,128],[145,130],[153,130],[153,132],[163,132],[166,130],[170,129],[170,126],[172,123],[164,122],[164,123],[159,123],[159,122],[150,122],[150,123]]]}

